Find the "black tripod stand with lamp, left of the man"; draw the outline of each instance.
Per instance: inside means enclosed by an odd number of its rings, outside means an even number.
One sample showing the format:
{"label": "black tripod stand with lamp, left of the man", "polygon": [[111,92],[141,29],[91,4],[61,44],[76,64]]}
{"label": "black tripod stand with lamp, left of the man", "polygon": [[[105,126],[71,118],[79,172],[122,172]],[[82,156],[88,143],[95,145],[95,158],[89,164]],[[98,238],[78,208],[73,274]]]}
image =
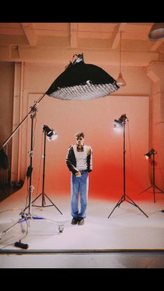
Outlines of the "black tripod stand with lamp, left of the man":
{"label": "black tripod stand with lamp, left of the man", "polygon": [[[42,193],[39,194],[38,197],[36,197],[33,201],[32,201],[32,206],[35,207],[49,207],[49,206],[55,206],[56,209],[61,213],[61,211],[58,209],[58,207],[49,199],[49,197],[47,196],[47,194],[45,194],[44,192],[44,173],[45,173],[45,157],[46,157],[46,136],[48,135],[47,132],[47,127],[48,126],[43,126],[43,131],[44,131],[44,156],[43,156],[43,173],[42,173]],[[40,196],[42,195],[42,206],[37,206],[37,205],[33,205],[33,202],[35,200],[37,200]],[[47,197],[47,199],[49,199],[49,201],[51,202],[51,205],[45,205],[45,197]],[[26,209],[26,208],[25,208]],[[63,214],[63,213],[61,213]]]}

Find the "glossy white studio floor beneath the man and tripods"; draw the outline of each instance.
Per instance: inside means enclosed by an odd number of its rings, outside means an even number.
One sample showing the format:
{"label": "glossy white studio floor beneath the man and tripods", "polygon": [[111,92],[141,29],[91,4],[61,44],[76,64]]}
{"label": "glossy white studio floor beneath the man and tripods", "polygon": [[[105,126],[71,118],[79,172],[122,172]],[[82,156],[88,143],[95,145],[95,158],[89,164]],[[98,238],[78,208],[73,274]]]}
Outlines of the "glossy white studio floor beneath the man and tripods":
{"label": "glossy white studio floor beneath the man and tripods", "polygon": [[[18,190],[0,203],[0,251],[40,253],[110,252],[110,251],[163,251],[164,250],[164,195],[156,194],[156,203],[150,194],[149,201],[135,201],[148,215],[124,201],[111,211],[117,201],[88,199],[88,216],[82,226],[72,225],[70,197],[47,194],[55,206],[32,206],[34,219],[20,222],[25,208],[26,194]],[[28,203],[28,201],[27,201]],[[41,205],[38,199],[35,205]],[[46,206],[49,200],[46,199]],[[28,213],[28,208],[25,213]],[[110,217],[108,218],[108,215]],[[41,217],[42,219],[36,219]],[[63,224],[63,231],[59,231]],[[15,242],[28,244],[28,249],[15,247]],[[69,256],[70,259],[70,256]],[[164,256],[163,256],[164,260]],[[1,260],[0,267],[3,262]],[[163,265],[164,267],[164,261]]]}

